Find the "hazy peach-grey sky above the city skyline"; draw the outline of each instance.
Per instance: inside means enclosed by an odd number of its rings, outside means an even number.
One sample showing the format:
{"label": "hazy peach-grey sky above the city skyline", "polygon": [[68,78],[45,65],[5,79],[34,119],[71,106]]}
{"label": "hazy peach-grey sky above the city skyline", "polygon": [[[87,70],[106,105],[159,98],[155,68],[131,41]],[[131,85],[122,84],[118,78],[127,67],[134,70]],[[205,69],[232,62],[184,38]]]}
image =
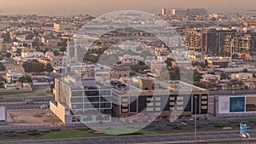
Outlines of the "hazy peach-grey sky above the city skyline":
{"label": "hazy peach-grey sky above the city skyline", "polygon": [[[106,14],[142,10],[160,14],[161,8],[206,8],[210,12],[244,12],[256,9],[256,0],[0,0],[2,14]],[[1,13],[0,13],[1,14]]]}

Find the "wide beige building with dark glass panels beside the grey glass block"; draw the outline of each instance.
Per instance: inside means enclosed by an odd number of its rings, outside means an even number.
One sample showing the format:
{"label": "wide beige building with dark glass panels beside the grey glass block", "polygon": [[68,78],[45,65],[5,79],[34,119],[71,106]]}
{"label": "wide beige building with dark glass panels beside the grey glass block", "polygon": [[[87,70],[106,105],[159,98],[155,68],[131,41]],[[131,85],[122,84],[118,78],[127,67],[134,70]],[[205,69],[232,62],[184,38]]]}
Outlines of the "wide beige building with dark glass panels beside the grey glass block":
{"label": "wide beige building with dark glass panels beside the grey glass block", "polygon": [[154,82],[149,78],[133,79],[127,83],[113,83],[113,115],[115,117],[125,119],[125,117],[135,116],[133,120],[150,118],[168,120],[171,114],[178,118],[195,113],[199,117],[207,117],[207,89],[181,81]]}

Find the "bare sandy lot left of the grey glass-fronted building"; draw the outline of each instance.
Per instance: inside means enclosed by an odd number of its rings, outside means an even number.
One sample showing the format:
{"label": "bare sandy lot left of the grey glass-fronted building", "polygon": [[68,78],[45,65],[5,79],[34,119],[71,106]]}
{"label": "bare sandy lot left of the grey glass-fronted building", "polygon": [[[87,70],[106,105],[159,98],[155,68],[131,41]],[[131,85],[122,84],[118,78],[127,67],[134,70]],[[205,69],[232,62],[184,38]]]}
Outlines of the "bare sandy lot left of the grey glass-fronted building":
{"label": "bare sandy lot left of the grey glass-fronted building", "polygon": [[61,120],[49,110],[8,111],[8,123],[12,125],[54,125],[62,124]]}

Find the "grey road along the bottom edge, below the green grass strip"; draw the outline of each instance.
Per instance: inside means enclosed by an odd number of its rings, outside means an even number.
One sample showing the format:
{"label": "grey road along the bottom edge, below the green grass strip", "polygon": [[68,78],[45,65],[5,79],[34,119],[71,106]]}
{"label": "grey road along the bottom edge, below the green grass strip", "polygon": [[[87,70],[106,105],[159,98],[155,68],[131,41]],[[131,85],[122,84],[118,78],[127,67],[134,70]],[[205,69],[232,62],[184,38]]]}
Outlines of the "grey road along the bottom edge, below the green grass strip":
{"label": "grey road along the bottom edge, below the green grass strip", "polygon": [[[256,131],[248,131],[251,135],[256,135]],[[106,137],[87,137],[87,138],[69,138],[69,139],[51,139],[51,140],[39,140],[39,141],[3,141],[0,144],[115,144],[115,143],[221,143],[221,142],[233,142],[242,143],[237,131],[229,132],[204,132],[198,133],[196,141],[194,140],[194,134],[182,133],[182,134],[166,134],[166,135],[120,135],[120,136],[106,136]]]}

